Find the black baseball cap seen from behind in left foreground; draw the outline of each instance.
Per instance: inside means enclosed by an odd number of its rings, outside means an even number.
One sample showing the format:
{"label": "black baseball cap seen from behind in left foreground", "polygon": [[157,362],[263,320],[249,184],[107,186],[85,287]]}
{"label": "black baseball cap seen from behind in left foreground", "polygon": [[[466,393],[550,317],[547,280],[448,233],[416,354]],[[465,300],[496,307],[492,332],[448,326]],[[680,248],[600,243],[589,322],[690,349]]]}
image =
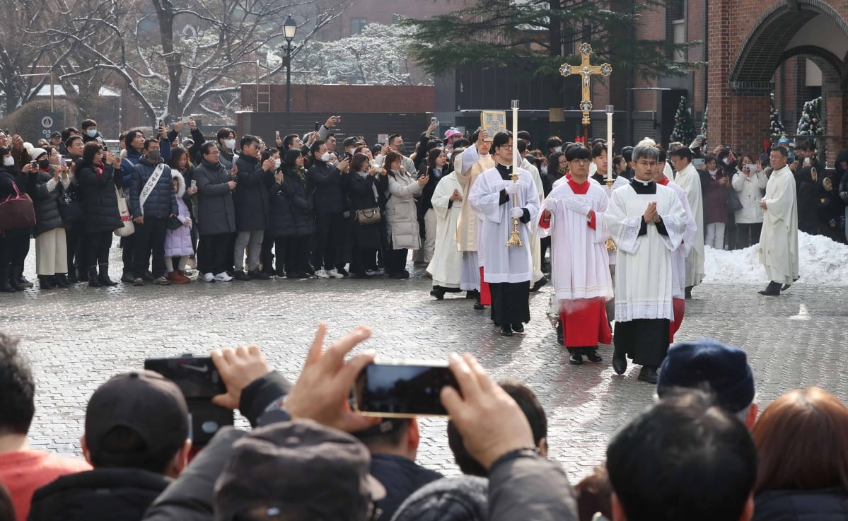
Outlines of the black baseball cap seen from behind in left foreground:
{"label": "black baseball cap seen from behind in left foreground", "polygon": [[[118,450],[105,443],[116,427],[135,432],[142,446]],[[94,391],[86,407],[86,448],[98,467],[144,468],[173,457],[188,437],[188,407],[179,387],[148,370],[118,374]]]}

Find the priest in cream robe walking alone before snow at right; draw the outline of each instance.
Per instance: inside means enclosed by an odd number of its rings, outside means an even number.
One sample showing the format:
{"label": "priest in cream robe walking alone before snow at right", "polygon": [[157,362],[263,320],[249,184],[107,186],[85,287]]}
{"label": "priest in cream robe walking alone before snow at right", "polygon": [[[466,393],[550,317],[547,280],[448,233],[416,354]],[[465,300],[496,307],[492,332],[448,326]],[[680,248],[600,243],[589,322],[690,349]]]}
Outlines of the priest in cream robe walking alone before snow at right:
{"label": "priest in cream robe walking alone before snow at right", "polygon": [[786,166],[788,152],[774,147],[769,162],[774,171],[766,184],[762,208],[760,262],[768,275],[768,286],[760,295],[776,297],[798,280],[798,197],[795,176]]}

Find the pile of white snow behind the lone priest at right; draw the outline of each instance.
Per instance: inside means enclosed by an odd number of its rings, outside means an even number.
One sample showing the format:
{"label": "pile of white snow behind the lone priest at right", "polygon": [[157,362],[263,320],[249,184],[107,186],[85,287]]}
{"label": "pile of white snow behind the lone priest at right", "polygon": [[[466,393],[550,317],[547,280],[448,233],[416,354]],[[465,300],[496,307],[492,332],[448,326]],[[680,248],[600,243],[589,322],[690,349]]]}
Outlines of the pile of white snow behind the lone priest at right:
{"label": "pile of white snow behind the lone priest at right", "polygon": [[[766,270],[760,263],[760,245],[727,252],[705,247],[704,282],[762,283]],[[798,232],[801,280],[809,285],[848,285],[848,245],[825,236]]]}

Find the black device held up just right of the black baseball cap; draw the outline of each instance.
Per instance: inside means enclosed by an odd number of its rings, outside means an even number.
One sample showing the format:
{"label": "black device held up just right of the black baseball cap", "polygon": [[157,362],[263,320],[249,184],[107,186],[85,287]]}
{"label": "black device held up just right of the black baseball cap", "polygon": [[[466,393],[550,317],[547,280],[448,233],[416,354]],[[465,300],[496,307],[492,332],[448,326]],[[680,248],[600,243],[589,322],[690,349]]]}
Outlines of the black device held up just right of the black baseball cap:
{"label": "black device held up just right of the black baseball cap", "polygon": [[144,369],[159,373],[176,383],[186,397],[190,438],[195,446],[205,446],[218,430],[233,424],[230,409],[212,403],[212,396],[226,393],[211,357],[185,354],[171,358],[148,358]]}

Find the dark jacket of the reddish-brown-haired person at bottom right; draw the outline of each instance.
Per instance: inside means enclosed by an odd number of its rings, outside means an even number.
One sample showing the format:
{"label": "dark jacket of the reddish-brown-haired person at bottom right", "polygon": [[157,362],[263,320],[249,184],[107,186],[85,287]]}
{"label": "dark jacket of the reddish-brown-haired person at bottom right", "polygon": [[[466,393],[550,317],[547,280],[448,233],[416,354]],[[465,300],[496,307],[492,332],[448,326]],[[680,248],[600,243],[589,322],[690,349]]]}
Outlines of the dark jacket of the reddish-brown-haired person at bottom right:
{"label": "dark jacket of the reddish-brown-haired person at bottom right", "polygon": [[848,492],[765,491],[754,498],[752,521],[848,521]]}

